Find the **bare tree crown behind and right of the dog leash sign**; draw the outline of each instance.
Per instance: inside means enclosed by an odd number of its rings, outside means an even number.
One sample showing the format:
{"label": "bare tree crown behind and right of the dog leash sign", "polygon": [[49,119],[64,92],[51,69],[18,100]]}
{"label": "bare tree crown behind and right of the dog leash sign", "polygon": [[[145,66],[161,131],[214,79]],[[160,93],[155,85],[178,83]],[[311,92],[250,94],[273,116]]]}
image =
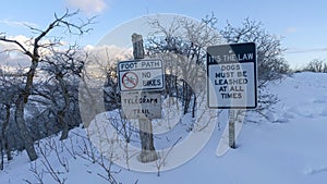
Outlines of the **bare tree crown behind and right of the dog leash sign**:
{"label": "bare tree crown behind and right of the dog leash sign", "polygon": [[289,64],[282,58],[286,49],[282,48],[280,38],[267,33],[263,23],[245,19],[241,26],[233,26],[228,22],[220,34],[230,44],[256,44],[259,87],[290,72]]}

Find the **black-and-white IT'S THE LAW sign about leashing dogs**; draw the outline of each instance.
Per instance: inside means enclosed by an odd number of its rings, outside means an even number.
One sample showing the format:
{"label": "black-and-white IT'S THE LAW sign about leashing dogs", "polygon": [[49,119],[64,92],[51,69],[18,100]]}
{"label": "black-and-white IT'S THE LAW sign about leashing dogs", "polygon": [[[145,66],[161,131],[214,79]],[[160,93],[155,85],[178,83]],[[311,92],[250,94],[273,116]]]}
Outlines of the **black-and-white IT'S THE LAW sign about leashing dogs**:
{"label": "black-and-white IT'S THE LAW sign about leashing dogs", "polygon": [[254,42],[207,48],[209,108],[254,109],[257,106]]}

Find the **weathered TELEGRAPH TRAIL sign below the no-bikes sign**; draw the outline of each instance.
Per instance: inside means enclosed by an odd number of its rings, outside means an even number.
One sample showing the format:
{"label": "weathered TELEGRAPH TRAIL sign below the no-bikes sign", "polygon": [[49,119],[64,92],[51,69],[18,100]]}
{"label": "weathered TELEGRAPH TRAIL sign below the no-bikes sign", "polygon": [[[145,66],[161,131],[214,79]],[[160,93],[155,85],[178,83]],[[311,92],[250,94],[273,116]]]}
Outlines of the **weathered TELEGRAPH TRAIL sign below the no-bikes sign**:
{"label": "weathered TELEGRAPH TRAIL sign below the no-bikes sign", "polygon": [[160,93],[121,93],[121,105],[125,119],[161,119]]}

